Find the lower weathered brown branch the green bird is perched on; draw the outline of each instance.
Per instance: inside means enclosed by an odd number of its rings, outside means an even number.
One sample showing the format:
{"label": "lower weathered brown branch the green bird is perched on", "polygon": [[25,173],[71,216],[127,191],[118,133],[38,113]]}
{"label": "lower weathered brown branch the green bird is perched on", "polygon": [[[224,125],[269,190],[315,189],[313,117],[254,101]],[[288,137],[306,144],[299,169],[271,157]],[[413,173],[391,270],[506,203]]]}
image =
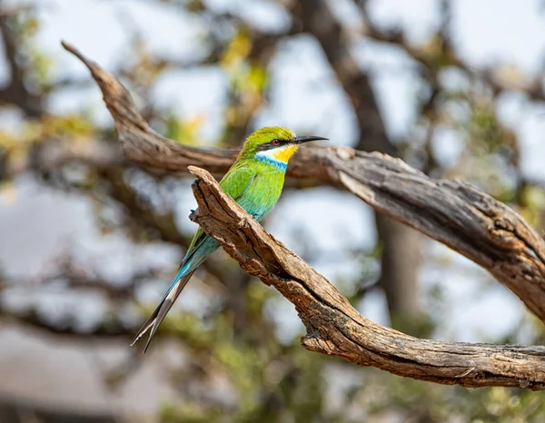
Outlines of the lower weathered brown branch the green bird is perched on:
{"label": "lower weathered brown branch the green bird is perched on", "polygon": [[203,169],[191,218],[220,241],[244,271],[292,302],[307,328],[305,349],[396,375],[464,387],[545,388],[545,348],[416,339],[367,320],[332,284],[222,192]]}

